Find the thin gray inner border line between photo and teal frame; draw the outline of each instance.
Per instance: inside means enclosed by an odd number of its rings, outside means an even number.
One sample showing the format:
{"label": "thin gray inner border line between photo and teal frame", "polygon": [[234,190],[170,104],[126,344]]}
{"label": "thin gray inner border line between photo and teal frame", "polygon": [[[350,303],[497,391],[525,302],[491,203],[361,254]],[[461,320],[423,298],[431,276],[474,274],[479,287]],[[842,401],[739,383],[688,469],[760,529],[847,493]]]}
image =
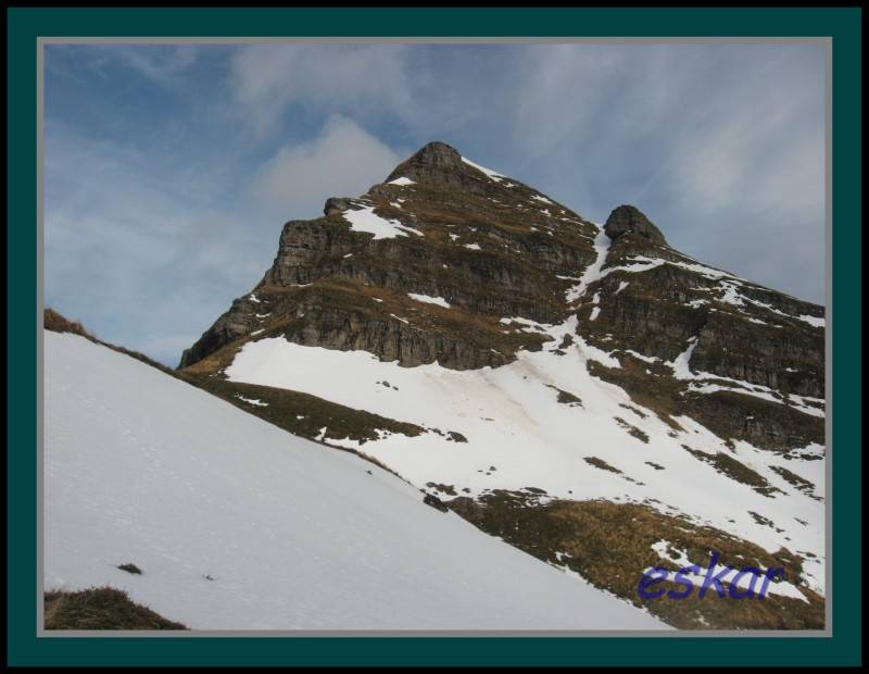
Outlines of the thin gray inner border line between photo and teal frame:
{"label": "thin gray inner border line between photo and teal frame", "polygon": [[[822,43],[826,46],[826,212],[824,212],[824,241],[826,241],[826,464],[824,464],[824,498],[826,498],[826,585],[824,585],[824,629],[807,631],[190,631],[190,632],[162,632],[148,629],[106,631],[95,633],[86,629],[71,629],[63,632],[47,631],[43,627],[43,353],[42,353],[42,312],[43,312],[43,142],[42,132],[45,122],[45,46],[46,45],[250,45],[250,43],[394,43],[394,45],[673,45],[673,43]],[[36,250],[36,325],[37,325],[37,585],[35,599],[36,633],[40,638],[68,638],[68,637],[168,637],[168,638],[207,638],[207,637],[655,637],[655,638],[701,638],[701,637],[832,637],[833,636],[833,575],[832,575],[832,461],[833,461],[833,386],[832,386],[832,329],[833,329],[833,288],[832,288],[832,39],[829,37],[606,37],[606,38],[577,38],[577,37],[40,37],[36,45],[37,66],[37,250]]]}

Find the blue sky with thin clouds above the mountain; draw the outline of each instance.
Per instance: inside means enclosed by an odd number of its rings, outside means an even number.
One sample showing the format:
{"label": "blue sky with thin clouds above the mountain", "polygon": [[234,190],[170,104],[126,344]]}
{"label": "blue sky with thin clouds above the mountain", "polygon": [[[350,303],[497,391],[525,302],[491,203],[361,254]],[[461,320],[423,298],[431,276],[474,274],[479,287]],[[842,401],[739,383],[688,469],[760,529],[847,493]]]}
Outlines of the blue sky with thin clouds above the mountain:
{"label": "blue sky with thin clouds above the mountain", "polygon": [[430,140],[822,303],[821,45],[46,47],[45,297],[171,365]]}

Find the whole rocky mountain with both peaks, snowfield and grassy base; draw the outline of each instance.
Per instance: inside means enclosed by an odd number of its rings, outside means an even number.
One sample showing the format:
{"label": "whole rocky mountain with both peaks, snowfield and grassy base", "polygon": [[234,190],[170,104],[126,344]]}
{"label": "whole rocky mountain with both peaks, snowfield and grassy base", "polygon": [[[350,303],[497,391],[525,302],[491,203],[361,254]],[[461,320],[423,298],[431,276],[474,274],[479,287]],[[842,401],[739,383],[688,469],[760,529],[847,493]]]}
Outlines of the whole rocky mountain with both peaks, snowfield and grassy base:
{"label": "whole rocky mountain with both peaks, snowfield and grassy base", "polygon": [[[824,310],[664,232],[431,142],[286,223],[178,376],[677,626],[822,626]],[[766,603],[637,595],[711,549],[785,582]]]}

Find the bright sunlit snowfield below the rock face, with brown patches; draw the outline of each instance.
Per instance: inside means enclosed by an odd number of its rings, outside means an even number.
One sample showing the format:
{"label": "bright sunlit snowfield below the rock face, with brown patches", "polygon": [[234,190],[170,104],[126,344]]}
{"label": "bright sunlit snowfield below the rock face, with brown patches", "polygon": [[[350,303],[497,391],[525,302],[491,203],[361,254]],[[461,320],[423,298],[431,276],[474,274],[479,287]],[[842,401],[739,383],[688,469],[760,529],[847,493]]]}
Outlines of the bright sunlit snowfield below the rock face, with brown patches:
{"label": "bright sunlit snowfield below the rock face, with brown patches", "polygon": [[[437,363],[401,367],[365,351],[265,338],[245,344],[226,375],[234,382],[328,397],[467,438],[467,444],[456,444],[433,433],[385,434],[365,442],[366,453],[416,485],[452,485],[471,497],[492,489],[533,487],[550,498],[645,502],[747,538],[770,552],[781,547],[808,551],[804,576],[813,589],[823,592],[823,461],[785,462],[744,441],[731,449],[688,416],[678,417],[681,429],[676,430],[621,388],[589,373],[589,362],[613,361],[618,366],[612,354],[581,337],[575,337],[576,344],[563,349],[563,355],[554,353],[564,335],[575,334],[575,317],[562,326],[522,321],[525,329],[546,333],[552,341],[540,351],[522,351],[515,362],[498,369],[458,372]],[[564,401],[563,391],[575,401]],[[347,438],[322,439],[360,446]],[[778,489],[779,498],[722,476],[685,447],[733,457]],[[809,446],[804,452],[822,450]],[[587,461],[590,458],[618,472],[601,470]],[[777,472],[782,464],[809,480],[817,494],[790,484]]]}

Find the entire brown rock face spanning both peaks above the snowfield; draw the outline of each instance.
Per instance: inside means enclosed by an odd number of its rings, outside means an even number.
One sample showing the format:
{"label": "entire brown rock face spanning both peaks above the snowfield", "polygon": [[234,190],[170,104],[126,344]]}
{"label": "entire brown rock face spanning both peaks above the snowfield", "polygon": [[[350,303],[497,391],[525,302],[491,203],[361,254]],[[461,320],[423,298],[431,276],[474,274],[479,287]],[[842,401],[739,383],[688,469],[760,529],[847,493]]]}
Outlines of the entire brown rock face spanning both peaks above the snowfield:
{"label": "entire brown rock face spanning both peaks above the snowfield", "polygon": [[274,336],[403,366],[499,367],[551,339],[505,322],[576,316],[576,336],[620,363],[593,364],[595,376],[662,415],[691,410],[776,451],[823,441],[823,308],[673,250],[633,205],[600,227],[430,142],[324,213],[284,225],[272,267],[181,369],[219,373]]}

